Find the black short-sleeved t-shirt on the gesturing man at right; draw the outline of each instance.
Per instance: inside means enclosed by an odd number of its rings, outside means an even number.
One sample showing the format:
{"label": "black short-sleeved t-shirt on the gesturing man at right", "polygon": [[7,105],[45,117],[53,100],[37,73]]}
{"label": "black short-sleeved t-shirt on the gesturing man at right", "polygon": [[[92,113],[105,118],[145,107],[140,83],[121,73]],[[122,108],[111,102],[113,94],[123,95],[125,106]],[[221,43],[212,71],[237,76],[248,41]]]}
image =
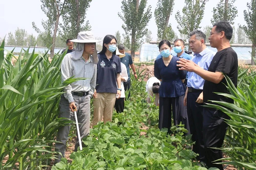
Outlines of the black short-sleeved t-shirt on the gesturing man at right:
{"label": "black short-sleeved t-shirt on the gesturing man at right", "polygon": [[[217,52],[213,57],[208,69],[209,72],[222,72],[226,74],[231,79],[231,81],[235,86],[237,85],[237,70],[238,70],[237,54],[231,47],[225,48]],[[215,101],[234,103],[233,99],[226,98],[222,95],[218,95],[215,93],[215,92],[229,93],[226,85],[227,85],[226,78],[223,78],[222,81],[218,84],[205,80],[203,85],[203,102],[211,103],[208,100],[215,100]]]}

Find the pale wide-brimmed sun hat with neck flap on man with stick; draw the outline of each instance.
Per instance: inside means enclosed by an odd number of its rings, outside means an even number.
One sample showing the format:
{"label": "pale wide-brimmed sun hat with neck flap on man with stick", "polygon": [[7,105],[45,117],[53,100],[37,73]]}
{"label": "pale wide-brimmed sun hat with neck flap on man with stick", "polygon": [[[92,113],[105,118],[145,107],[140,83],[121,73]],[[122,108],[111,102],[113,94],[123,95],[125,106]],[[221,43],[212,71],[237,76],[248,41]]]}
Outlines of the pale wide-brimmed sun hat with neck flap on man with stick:
{"label": "pale wide-brimmed sun hat with neck flap on man with stick", "polygon": [[[83,51],[84,51],[84,43],[101,42],[101,40],[95,39],[93,33],[90,31],[80,32],[77,35],[77,39],[72,39],[70,41],[77,43],[75,51],[70,52],[73,60],[78,60],[81,58]],[[96,50],[96,46],[95,46],[94,53],[93,53],[93,62],[94,62],[94,64],[97,64],[98,61],[99,61],[99,59],[98,59],[97,50]]]}

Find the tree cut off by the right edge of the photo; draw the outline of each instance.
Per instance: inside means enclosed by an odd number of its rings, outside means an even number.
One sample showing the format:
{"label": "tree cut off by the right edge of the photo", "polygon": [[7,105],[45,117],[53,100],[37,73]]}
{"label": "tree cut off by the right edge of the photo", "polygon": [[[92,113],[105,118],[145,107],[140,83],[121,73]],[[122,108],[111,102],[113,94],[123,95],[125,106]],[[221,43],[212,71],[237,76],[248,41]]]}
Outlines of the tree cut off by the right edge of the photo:
{"label": "tree cut off by the right edge of the photo", "polygon": [[256,50],[256,0],[251,0],[247,3],[248,11],[243,11],[244,20],[247,25],[241,26],[247,37],[252,42],[251,50],[251,65],[255,65],[255,50]]}

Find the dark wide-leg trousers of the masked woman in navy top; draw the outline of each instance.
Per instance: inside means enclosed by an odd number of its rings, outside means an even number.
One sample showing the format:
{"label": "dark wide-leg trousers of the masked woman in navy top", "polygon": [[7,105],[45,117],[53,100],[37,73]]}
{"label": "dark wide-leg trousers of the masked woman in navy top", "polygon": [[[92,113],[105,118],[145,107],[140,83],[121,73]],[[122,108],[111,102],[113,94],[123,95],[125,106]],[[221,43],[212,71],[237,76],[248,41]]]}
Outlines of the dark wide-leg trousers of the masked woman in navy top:
{"label": "dark wide-leg trousers of the masked woman in navy top", "polygon": [[[189,120],[186,107],[183,105],[184,95],[177,98],[159,97],[159,129],[171,127],[171,112],[173,113],[174,125],[185,124],[185,128],[189,131]],[[190,131],[187,133],[190,134]]]}

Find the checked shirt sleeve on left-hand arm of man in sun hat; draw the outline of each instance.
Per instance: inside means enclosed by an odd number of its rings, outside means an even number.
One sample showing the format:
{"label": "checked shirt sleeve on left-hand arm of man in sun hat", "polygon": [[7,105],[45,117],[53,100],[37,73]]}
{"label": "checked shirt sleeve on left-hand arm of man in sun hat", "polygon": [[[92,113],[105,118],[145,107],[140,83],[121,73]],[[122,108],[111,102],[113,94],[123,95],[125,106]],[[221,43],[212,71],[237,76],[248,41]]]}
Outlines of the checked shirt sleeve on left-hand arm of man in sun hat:
{"label": "checked shirt sleeve on left-hand arm of man in sun hat", "polygon": [[[70,61],[70,57],[66,55],[61,63],[61,82],[63,83],[68,78],[72,77],[72,65]],[[72,86],[67,85],[64,88],[64,97],[68,100],[69,103],[74,102],[74,98],[72,96]]]}

